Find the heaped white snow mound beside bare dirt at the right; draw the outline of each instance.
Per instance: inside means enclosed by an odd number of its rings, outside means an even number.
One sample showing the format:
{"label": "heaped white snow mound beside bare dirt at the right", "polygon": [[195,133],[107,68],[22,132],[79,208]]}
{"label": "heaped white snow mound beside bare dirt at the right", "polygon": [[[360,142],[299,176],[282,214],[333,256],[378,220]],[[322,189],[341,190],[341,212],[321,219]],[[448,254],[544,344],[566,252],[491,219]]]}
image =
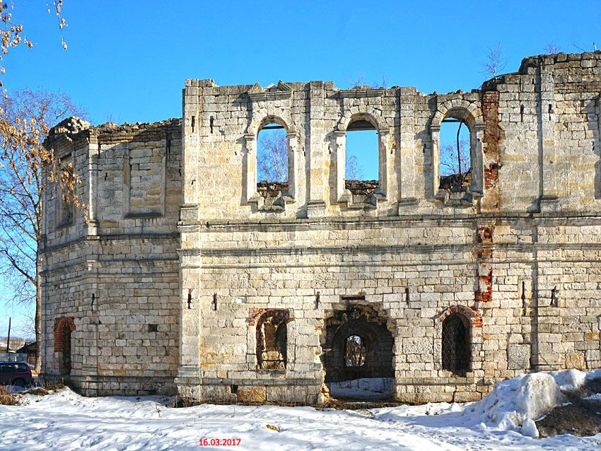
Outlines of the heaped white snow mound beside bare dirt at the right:
{"label": "heaped white snow mound beside bare dirt at the right", "polygon": [[[596,372],[593,372],[596,373]],[[473,421],[481,421],[487,428],[516,430],[528,437],[537,437],[535,421],[564,403],[562,392],[580,388],[586,373],[566,370],[561,373],[532,373],[498,382],[482,401],[464,411]]]}

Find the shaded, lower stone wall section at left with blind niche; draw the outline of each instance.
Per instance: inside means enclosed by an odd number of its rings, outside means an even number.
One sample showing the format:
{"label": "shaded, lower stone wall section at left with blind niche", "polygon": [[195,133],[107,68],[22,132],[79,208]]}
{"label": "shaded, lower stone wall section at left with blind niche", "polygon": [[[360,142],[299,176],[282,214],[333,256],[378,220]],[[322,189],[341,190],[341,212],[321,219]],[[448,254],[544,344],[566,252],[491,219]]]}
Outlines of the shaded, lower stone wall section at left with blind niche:
{"label": "shaded, lower stone wall section at left with blind niche", "polygon": [[[85,394],[173,392],[179,362],[179,121],[86,126],[71,136],[51,136],[47,145],[78,161],[78,189],[90,220],[76,211],[72,224],[57,228],[57,199],[47,199],[44,377],[68,379]],[[62,317],[74,318],[69,375],[61,374],[53,334]]]}

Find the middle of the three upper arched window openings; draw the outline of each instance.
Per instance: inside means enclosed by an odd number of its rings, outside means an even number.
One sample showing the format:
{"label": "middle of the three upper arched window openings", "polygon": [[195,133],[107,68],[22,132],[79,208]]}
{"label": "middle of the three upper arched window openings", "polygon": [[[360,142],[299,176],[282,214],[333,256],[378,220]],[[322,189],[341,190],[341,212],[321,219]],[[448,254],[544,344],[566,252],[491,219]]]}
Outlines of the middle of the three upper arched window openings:
{"label": "middle of the three upper arched window openings", "polygon": [[368,195],[378,188],[378,132],[371,122],[359,119],[346,128],[344,187]]}

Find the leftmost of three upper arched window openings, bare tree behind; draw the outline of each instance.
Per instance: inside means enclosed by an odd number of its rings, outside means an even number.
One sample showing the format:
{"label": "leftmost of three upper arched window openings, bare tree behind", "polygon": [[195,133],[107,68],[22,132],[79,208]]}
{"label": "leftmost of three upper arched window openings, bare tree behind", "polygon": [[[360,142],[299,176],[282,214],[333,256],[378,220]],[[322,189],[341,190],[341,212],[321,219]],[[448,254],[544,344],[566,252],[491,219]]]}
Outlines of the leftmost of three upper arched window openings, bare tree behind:
{"label": "leftmost of three upper arched window openings, bare tree behind", "polygon": [[257,192],[275,197],[288,191],[288,136],[275,122],[265,124],[257,136]]}

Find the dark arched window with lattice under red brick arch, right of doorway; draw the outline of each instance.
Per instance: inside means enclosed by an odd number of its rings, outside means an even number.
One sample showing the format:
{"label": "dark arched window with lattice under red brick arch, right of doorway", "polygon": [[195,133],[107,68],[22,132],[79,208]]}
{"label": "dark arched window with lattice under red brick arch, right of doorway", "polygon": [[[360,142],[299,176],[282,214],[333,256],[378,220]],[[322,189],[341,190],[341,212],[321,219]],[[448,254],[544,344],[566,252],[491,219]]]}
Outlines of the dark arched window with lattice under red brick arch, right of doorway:
{"label": "dark arched window with lattice under red brick arch, right of doorway", "polygon": [[469,320],[460,313],[452,313],[443,321],[443,370],[465,376],[469,370]]}

